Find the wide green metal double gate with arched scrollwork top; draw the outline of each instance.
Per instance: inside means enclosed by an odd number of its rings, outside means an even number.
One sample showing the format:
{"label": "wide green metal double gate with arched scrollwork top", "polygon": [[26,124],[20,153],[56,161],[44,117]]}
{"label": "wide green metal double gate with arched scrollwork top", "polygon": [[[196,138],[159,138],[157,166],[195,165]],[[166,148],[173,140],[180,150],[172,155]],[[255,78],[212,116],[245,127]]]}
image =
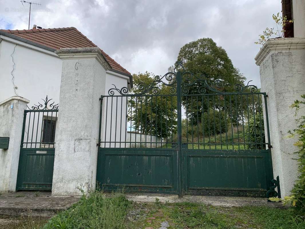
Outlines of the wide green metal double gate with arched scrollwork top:
{"label": "wide green metal double gate with arched scrollwork top", "polygon": [[133,92],[114,85],[100,98],[103,190],[265,196],[273,179],[266,93],[180,62]]}

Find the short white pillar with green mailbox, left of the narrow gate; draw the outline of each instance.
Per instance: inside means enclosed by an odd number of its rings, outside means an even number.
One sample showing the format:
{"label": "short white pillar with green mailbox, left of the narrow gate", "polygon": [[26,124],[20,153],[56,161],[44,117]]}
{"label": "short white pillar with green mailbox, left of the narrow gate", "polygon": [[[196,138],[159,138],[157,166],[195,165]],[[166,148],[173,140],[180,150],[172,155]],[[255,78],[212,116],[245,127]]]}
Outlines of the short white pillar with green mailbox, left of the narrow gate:
{"label": "short white pillar with green mailbox, left of the narrow gate", "polygon": [[16,191],[23,115],[29,102],[20,96],[0,102],[0,137],[9,137],[8,149],[0,149],[0,192]]}

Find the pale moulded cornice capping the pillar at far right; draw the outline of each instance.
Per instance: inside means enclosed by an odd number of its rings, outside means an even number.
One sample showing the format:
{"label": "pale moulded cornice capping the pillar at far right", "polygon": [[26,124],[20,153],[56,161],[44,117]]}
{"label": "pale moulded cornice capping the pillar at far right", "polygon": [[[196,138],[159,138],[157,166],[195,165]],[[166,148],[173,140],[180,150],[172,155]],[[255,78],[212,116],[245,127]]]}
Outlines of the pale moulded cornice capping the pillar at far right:
{"label": "pale moulded cornice capping the pillar at far right", "polygon": [[305,49],[305,38],[271,38],[255,56],[256,65],[260,65],[271,52]]}

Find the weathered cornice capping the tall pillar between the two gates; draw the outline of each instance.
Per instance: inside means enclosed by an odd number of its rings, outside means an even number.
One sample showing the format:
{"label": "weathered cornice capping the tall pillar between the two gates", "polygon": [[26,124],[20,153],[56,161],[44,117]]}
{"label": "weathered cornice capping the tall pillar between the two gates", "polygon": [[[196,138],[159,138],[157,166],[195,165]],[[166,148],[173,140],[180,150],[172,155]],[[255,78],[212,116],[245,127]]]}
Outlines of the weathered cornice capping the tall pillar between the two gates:
{"label": "weathered cornice capping the tall pillar between the two gates", "polygon": [[55,51],[55,53],[62,60],[78,60],[78,59],[90,59],[95,58],[102,67],[108,71],[111,69],[110,65],[102,55],[98,47],[89,48],[65,48]]}

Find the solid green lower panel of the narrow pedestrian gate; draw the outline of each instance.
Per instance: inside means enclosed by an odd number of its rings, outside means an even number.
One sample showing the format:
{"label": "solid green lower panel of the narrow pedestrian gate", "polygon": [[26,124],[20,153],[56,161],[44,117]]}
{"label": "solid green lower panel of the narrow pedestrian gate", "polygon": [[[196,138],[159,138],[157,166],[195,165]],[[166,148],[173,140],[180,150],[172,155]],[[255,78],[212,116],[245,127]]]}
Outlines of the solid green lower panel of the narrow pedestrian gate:
{"label": "solid green lower panel of the narrow pedestrian gate", "polygon": [[16,190],[51,190],[55,149],[22,148]]}

